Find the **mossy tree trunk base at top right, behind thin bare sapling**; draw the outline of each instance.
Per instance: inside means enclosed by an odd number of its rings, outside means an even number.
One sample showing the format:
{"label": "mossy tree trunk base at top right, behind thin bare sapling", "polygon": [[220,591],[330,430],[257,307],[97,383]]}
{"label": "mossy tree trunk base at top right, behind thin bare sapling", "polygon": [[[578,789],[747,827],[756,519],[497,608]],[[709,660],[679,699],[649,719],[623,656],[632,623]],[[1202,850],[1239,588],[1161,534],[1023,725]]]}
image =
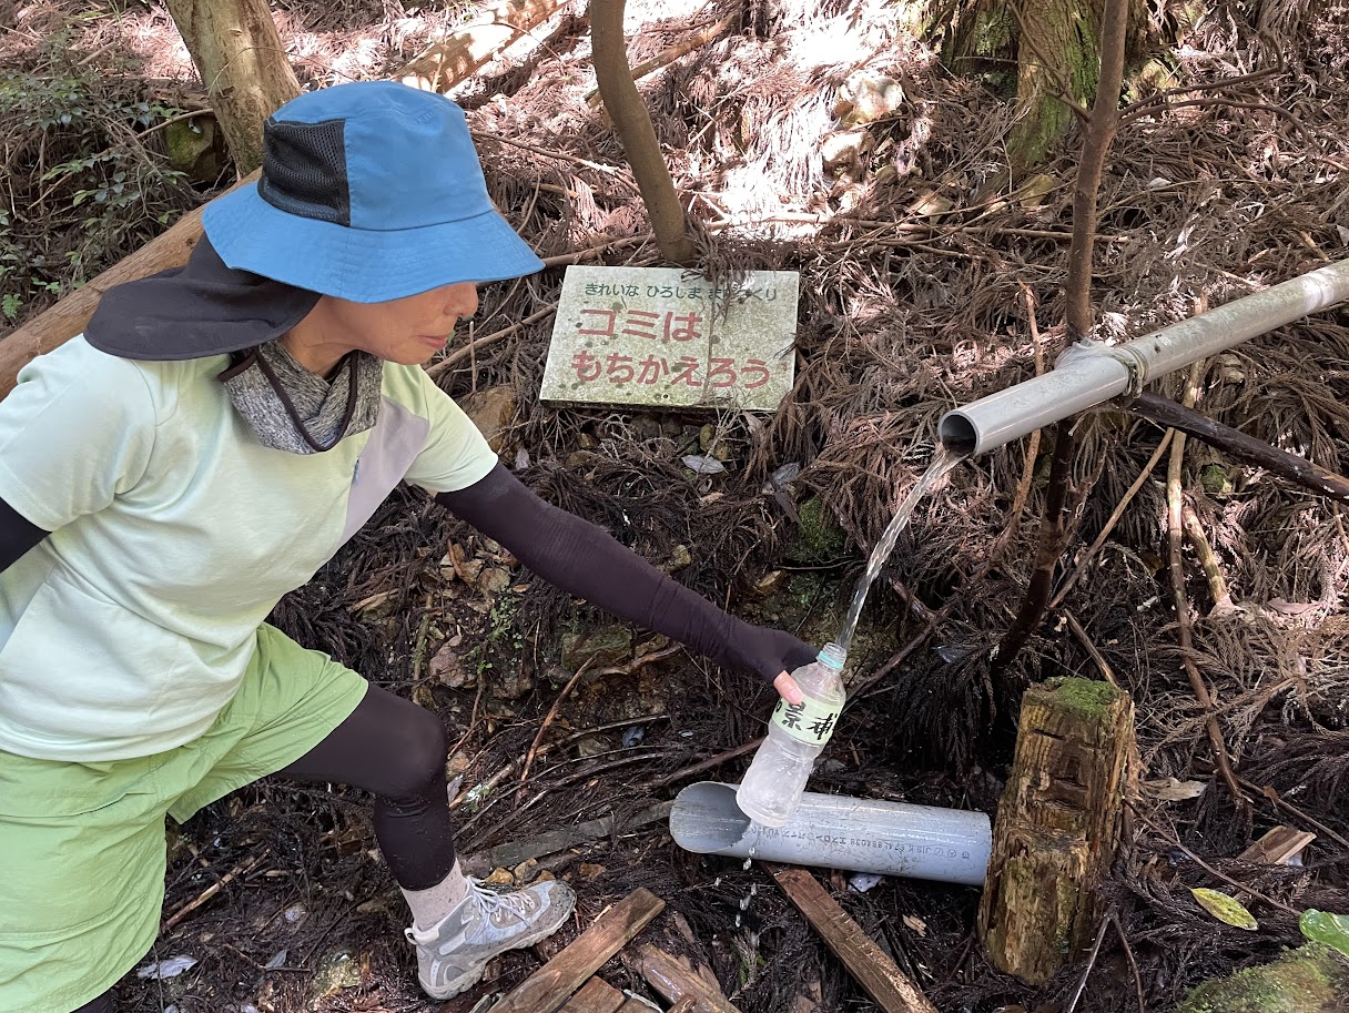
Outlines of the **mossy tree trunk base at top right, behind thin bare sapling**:
{"label": "mossy tree trunk base at top right, behind thin bare sapling", "polygon": [[[1095,101],[1101,62],[1103,0],[963,0],[946,26],[942,59],[959,73],[974,73],[1016,101],[1008,135],[1014,174],[1051,158],[1072,125],[1070,100],[1081,109]],[[1130,61],[1147,24],[1145,0],[1129,0]],[[1016,67],[1016,73],[1010,67]]]}

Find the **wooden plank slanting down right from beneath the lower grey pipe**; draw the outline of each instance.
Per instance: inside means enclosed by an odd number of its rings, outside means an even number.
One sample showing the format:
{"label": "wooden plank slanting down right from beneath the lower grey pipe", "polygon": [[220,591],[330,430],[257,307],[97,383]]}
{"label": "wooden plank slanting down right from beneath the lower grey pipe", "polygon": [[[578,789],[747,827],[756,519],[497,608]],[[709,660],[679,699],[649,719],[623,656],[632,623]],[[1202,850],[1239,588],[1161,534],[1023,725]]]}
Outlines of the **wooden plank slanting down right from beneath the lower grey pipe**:
{"label": "wooden plank slanting down right from beneath the lower grey pipe", "polygon": [[769,865],[773,878],[885,1013],[938,1013],[919,986],[804,869]]}

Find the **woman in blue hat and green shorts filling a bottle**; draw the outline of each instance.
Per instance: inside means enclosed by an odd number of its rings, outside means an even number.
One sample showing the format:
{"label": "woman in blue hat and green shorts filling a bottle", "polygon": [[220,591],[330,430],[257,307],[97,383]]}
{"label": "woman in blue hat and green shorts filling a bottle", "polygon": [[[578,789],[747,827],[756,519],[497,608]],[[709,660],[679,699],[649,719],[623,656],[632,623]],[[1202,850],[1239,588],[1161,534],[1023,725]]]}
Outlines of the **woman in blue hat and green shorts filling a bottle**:
{"label": "woman in blue hat and green shorts filling a bottle", "polygon": [[182,271],[111,291],[0,403],[0,1010],[109,1013],[158,928],[165,815],[272,773],[374,793],[429,995],[565,921],[564,884],[460,871],[433,714],[263,622],[398,482],[793,703],[812,657],[540,500],[421,368],[476,283],[542,267],[459,107],[301,96],[204,225]]}

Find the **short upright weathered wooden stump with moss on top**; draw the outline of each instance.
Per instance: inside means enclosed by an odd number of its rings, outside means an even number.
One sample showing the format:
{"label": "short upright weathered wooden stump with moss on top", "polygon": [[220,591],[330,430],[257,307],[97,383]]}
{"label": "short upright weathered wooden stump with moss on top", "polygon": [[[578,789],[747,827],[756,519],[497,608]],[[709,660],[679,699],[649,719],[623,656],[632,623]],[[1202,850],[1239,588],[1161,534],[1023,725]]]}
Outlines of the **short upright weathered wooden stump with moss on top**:
{"label": "short upright weathered wooden stump with moss on top", "polygon": [[1040,985],[1090,946],[1137,765],[1128,693],[1085,678],[1025,692],[979,905],[997,967]]}

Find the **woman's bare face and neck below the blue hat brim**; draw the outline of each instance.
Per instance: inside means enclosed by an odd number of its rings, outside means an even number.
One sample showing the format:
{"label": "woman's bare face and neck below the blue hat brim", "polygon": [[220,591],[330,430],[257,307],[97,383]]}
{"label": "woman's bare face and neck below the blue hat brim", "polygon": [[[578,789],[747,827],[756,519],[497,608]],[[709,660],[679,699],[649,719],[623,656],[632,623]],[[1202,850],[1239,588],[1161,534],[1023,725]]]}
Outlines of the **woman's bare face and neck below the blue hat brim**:
{"label": "woman's bare face and neck below the blue hat brim", "polygon": [[320,375],[360,349],[402,366],[420,366],[449,341],[455,324],[478,310],[478,286],[456,282],[389,302],[324,295],[283,339],[287,351]]}

